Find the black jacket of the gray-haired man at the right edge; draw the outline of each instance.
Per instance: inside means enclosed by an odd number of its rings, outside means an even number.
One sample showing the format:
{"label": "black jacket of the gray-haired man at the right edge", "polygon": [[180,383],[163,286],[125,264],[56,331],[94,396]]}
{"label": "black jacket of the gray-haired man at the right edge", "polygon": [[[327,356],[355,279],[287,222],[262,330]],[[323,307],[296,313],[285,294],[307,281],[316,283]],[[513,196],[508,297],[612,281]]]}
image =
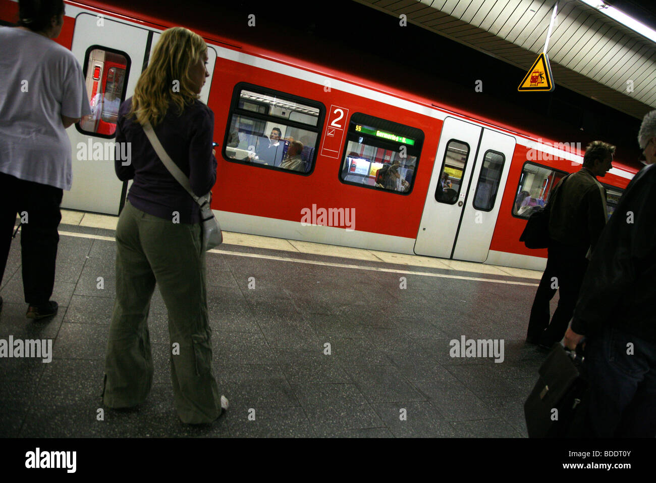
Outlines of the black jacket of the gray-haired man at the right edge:
{"label": "black jacket of the gray-haired man at the right edge", "polygon": [[571,324],[577,334],[604,325],[656,342],[656,165],[628,183],[586,272]]}

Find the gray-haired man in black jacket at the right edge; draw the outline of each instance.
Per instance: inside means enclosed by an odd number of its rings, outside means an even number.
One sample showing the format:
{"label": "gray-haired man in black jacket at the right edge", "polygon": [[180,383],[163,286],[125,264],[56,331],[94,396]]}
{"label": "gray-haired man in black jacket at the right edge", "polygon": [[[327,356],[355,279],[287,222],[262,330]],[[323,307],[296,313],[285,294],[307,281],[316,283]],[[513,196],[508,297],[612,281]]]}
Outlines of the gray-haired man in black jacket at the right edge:
{"label": "gray-haired man in black jacket at the right edge", "polygon": [[597,242],[563,341],[586,337],[589,436],[656,436],[656,110],[638,142],[647,166]]}

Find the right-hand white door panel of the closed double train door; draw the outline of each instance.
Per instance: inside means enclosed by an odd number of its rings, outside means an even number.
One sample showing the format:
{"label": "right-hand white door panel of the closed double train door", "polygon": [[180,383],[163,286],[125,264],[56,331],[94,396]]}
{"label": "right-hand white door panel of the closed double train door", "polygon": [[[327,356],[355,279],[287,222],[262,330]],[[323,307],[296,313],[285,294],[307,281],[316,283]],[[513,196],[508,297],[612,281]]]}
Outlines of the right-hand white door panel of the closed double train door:
{"label": "right-hand white door panel of the closed double train door", "polygon": [[487,259],[514,150],[514,137],[483,129],[451,258]]}

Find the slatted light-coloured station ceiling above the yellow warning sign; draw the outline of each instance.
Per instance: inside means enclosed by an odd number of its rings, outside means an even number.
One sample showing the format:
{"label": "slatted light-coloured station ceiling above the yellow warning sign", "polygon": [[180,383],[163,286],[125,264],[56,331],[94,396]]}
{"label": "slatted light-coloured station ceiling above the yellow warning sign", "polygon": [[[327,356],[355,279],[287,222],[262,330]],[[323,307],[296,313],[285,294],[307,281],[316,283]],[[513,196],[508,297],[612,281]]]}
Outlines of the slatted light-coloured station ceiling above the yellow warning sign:
{"label": "slatted light-coloured station ceiling above the yellow warning sign", "polygon": [[[409,23],[526,72],[543,50],[556,3],[556,0],[355,1],[397,18],[405,14]],[[640,119],[656,108],[656,43],[580,0],[558,2],[547,54],[557,86]],[[522,78],[508,81],[519,85]]]}

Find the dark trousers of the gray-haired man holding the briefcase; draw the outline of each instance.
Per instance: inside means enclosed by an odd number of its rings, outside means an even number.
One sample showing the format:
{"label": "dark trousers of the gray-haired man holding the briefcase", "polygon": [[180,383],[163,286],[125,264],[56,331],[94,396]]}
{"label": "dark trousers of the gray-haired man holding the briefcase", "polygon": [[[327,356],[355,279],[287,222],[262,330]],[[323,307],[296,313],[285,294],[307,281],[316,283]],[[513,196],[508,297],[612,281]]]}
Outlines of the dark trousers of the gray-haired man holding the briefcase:
{"label": "dark trousers of the gray-haired man holding the briefcase", "polygon": [[[629,342],[632,354],[626,354]],[[590,436],[656,436],[655,342],[605,327],[587,338],[584,367],[590,387]]]}

